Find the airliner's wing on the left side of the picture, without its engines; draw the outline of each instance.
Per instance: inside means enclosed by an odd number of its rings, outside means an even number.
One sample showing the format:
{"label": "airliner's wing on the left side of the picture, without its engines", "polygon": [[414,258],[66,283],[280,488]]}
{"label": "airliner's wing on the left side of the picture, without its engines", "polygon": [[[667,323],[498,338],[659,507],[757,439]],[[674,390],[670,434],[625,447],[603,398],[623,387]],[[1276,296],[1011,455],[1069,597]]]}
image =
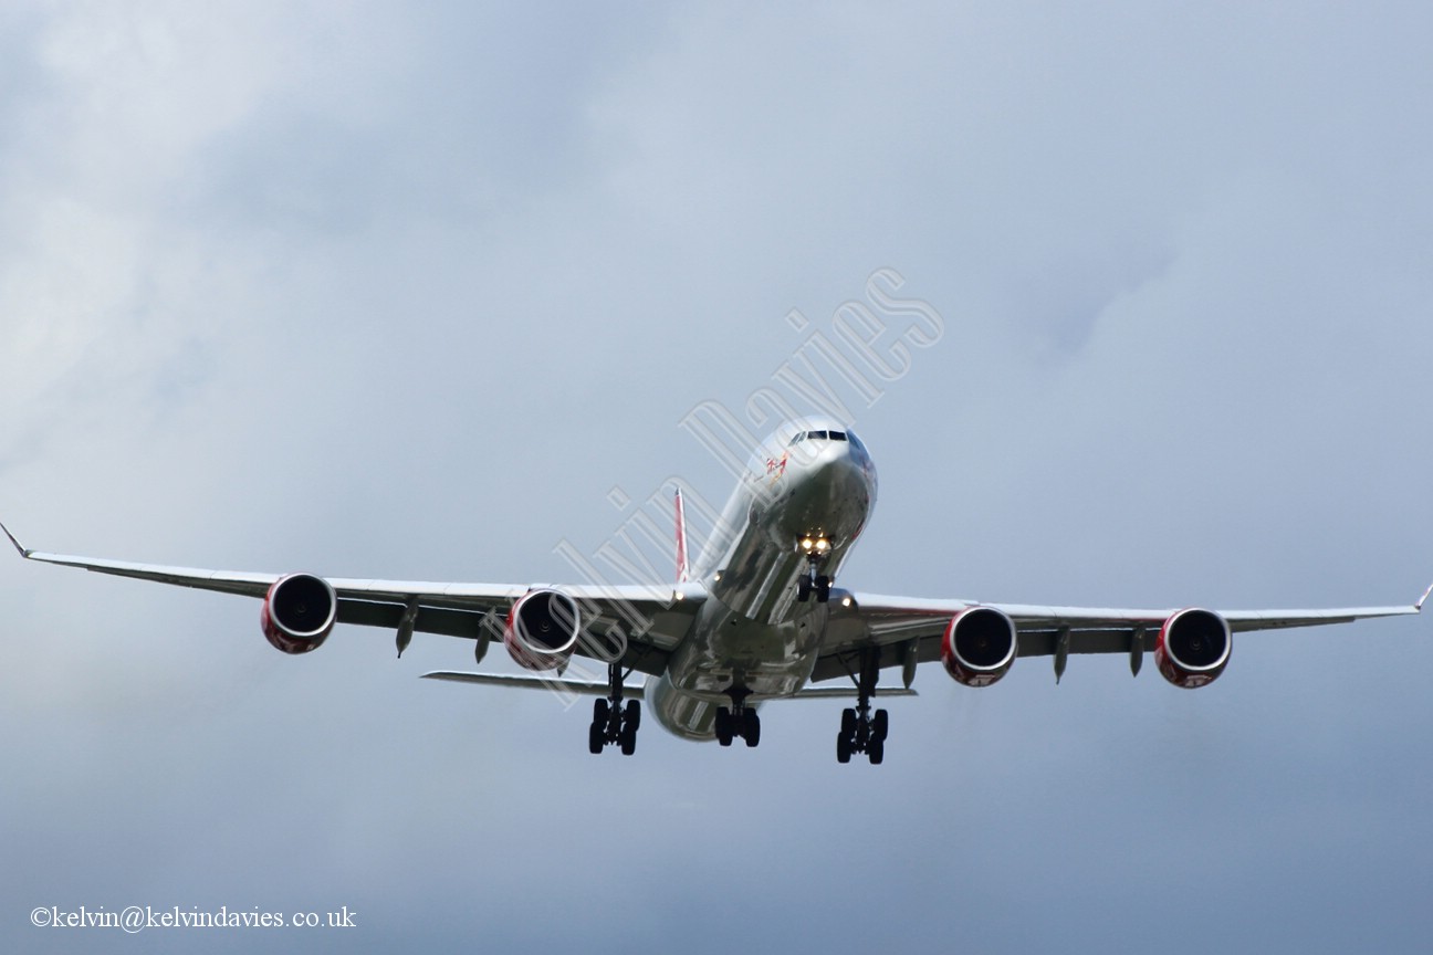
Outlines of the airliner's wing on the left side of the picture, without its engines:
{"label": "airliner's wing on the left side of the picture, without its engines", "polygon": [[[4,530],[0,525],[0,530]],[[178,587],[214,590],[264,598],[284,574],[198,567],[166,567],[29,550],[6,537],[26,560],[79,567],[100,574],[152,580]],[[400,633],[411,611],[411,633],[437,633],[470,640],[503,639],[507,611],[529,590],[546,584],[469,584],[406,580],[365,580],[325,577],[338,596],[337,621],[365,627],[384,627]],[[623,667],[638,673],[659,674],[671,650],[691,629],[696,610],[706,597],[698,583],[675,586],[605,586],[562,584],[559,588],[577,601],[586,633],[600,639],[620,631],[626,643]],[[400,636],[400,653],[406,639]],[[610,643],[609,643],[610,646]],[[583,654],[583,641],[577,653]],[[593,656],[588,653],[586,656]]]}

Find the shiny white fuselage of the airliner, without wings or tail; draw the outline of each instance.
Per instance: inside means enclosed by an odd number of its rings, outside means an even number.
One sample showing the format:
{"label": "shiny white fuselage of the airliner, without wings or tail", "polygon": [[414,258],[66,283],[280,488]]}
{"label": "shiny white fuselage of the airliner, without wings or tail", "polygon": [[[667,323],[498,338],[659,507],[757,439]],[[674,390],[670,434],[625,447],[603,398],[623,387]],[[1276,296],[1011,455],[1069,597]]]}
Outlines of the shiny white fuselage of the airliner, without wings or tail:
{"label": "shiny white fuselage of the airliner, without wings or tail", "polygon": [[[841,438],[810,437],[831,434]],[[711,597],[648,687],[666,730],[714,739],[716,707],[734,692],[757,706],[805,684],[830,604],[798,600],[813,573],[802,541],[821,543],[815,573],[834,578],[876,507],[876,485],[870,454],[840,425],[794,422],[762,442],[694,567]]]}

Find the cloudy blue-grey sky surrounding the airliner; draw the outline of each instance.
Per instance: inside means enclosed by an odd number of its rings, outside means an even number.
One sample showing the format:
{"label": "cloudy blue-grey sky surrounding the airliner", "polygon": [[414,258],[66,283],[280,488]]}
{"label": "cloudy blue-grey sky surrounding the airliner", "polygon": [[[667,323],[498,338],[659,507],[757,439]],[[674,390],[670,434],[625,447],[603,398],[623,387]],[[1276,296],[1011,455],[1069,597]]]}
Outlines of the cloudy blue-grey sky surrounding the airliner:
{"label": "cloudy blue-grey sky surrounding the airliner", "polygon": [[[866,328],[888,374],[830,381],[881,493],[838,584],[1412,603],[1430,30],[1417,3],[7,3],[0,518],[150,563],[580,581],[674,483],[725,500],[701,415],[810,411],[792,369]],[[917,312],[940,334],[901,351]],[[0,630],[10,952],[1433,931],[1427,620],[1241,636],[1199,692],[1118,657],[923,669],[878,767],[837,765],[838,702],[772,703],[755,750],[648,722],[593,757],[582,706],[417,679],[464,641],[291,659],[252,600],[14,557]],[[29,915],[133,905],[354,926]]]}

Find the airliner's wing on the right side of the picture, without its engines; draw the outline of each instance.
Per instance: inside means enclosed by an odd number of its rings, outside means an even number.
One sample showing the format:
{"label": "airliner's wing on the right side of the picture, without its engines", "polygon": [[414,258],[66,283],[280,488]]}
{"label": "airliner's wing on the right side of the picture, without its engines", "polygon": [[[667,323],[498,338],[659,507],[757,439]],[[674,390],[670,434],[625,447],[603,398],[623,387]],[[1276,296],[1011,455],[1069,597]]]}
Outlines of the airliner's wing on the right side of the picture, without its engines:
{"label": "airliner's wing on the right side of the picture, without its engines", "polygon": [[[1340,607],[1327,610],[1215,610],[1234,633],[1350,623],[1371,617],[1401,617],[1422,610],[1427,591],[1413,604],[1393,607]],[[850,603],[847,603],[847,598]],[[1002,604],[973,600],[926,600],[856,591],[831,596],[825,649],[811,674],[814,682],[854,673],[863,649],[883,647],[881,666],[910,666],[940,659],[946,626],[962,610],[990,607],[1016,626],[1019,656],[1072,653],[1123,653],[1131,666],[1155,649],[1159,629],[1181,607],[1132,610],[1112,607],[1059,607]],[[1063,669],[1060,664],[1058,669]]]}

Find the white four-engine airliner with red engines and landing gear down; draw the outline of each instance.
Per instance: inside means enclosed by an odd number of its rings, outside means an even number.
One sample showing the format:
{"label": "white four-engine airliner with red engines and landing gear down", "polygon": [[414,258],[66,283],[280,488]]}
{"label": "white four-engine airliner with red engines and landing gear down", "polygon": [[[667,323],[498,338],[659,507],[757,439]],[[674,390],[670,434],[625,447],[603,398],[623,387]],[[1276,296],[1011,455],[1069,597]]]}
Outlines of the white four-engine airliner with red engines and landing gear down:
{"label": "white four-engine airliner with red engines and landing gear down", "polygon": [[[500,639],[533,676],[433,672],[427,679],[543,687],[596,696],[589,752],[631,756],[645,700],[678,737],[748,747],[761,740],[762,703],[854,697],[841,712],[837,760],[881,763],[890,719],[871,700],[911,696],[917,667],[940,661],[957,683],[997,683],[1016,657],[1119,653],[1138,674],[1145,654],[1174,686],[1208,686],[1230,661],[1235,631],[1417,614],[1410,606],[1333,610],[1202,607],[1126,610],[890,597],[835,580],[876,505],[876,464],[857,434],[831,418],[785,422],[755,448],[701,556],[688,561],[681,491],[674,498],[676,583],[416,583],[165,567],[49,554],[21,557],[105,574],[262,600],[261,629],[288,654],[317,650],[337,623],[394,630],[398,656],[414,633],[474,641],[481,663]],[[608,679],[563,676],[573,657]],[[878,686],[886,669],[901,686]],[[632,674],[641,683],[629,683]],[[848,687],[814,687],[845,677]]]}

